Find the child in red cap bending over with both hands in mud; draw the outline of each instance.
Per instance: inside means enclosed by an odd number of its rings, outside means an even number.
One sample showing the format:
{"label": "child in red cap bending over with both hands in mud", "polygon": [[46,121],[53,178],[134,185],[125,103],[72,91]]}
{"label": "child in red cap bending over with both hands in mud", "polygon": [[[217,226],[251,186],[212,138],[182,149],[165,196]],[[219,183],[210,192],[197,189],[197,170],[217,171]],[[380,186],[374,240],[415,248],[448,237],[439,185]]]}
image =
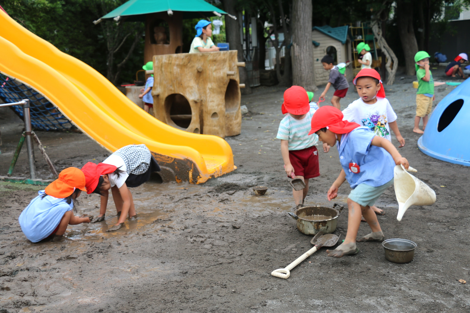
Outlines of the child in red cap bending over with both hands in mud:
{"label": "child in red cap bending over with both hands in mud", "polygon": [[106,231],[115,231],[124,226],[127,215],[129,221],[137,218],[129,187],[149,181],[150,174],[160,171],[160,167],[145,145],[126,145],[102,163],[86,163],[82,171],[86,177],[86,193],[101,196],[100,214],[93,223],[104,220],[111,188],[119,218],[117,224]]}

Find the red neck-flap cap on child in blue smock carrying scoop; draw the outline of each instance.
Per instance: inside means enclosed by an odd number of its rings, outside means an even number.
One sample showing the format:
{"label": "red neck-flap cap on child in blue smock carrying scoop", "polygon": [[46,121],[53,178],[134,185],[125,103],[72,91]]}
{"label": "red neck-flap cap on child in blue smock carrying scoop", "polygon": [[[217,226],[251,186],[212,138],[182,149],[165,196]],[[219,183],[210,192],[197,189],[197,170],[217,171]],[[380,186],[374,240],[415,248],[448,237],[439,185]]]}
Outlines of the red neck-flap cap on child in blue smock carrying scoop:
{"label": "red neck-flap cap on child in blue smock carrying scoop", "polygon": [[336,107],[323,106],[316,110],[312,117],[312,129],[308,133],[312,135],[315,131],[318,131],[324,127],[328,127],[329,130],[335,134],[345,134],[358,127],[360,125],[354,122],[343,121],[343,112]]}

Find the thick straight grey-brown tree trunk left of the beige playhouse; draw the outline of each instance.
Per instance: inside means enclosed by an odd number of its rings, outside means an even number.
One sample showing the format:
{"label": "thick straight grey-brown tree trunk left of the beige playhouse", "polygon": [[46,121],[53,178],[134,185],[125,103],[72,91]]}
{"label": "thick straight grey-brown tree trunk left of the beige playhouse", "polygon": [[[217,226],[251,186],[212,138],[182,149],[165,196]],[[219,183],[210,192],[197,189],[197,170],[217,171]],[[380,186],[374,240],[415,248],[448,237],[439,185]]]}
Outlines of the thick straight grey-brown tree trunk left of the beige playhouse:
{"label": "thick straight grey-brown tree trunk left of the beige playhouse", "polygon": [[292,84],[317,91],[313,70],[312,1],[294,0],[292,5]]}

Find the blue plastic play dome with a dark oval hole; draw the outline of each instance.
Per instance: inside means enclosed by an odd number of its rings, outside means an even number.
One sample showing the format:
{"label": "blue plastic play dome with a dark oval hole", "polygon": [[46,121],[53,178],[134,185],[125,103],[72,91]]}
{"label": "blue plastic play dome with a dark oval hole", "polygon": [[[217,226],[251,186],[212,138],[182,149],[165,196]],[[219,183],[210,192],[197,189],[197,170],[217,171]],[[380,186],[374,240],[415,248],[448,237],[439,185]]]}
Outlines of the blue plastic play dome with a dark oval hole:
{"label": "blue plastic play dome with a dark oval hole", "polygon": [[469,115],[470,79],[467,79],[432,111],[424,134],[418,139],[421,152],[439,160],[470,166],[470,144],[465,131]]}

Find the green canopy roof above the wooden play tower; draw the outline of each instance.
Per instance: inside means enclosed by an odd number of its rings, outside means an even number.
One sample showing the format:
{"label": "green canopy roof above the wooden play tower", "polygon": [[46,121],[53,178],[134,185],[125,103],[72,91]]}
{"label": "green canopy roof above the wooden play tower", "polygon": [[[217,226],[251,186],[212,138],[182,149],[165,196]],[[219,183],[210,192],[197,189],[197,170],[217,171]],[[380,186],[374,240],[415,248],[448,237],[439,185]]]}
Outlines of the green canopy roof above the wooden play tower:
{"label": "green canopy roof above the wooden play tower", "polygon": [[122,6],[115,8],[102,19],[117,16],[126,17],[129,22],[144,22],[145,15],[156,12],[182,11],[183,19],[204,18],[204,16],[215,16],[214,11],[219,14],[227,12],[214,7],[204,0],[129,0]]}

